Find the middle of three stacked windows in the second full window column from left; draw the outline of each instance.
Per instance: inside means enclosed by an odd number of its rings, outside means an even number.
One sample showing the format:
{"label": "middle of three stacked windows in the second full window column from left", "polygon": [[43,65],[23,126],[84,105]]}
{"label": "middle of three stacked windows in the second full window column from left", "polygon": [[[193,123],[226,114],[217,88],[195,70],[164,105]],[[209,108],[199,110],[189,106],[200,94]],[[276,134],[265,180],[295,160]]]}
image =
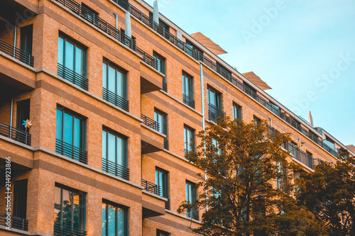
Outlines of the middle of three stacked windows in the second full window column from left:
{"label": "middle of three stacked windows in the second full window column from left", "polygon": [[127,138],[102,130],[102,170],[129,180]]}

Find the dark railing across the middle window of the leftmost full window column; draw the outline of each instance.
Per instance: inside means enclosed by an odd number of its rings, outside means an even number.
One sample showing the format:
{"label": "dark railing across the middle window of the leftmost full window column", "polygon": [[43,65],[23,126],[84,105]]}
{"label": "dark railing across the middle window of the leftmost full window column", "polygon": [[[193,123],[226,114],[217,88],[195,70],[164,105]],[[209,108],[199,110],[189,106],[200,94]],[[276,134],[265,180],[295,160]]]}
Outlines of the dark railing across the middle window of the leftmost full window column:
{"label": "dark railing across the middle window of the leftmost full window column", "polygon": [[70,157],[78,162],[87,164],[87,151],[81,149],[80,147],[75,147],[62,140],[55,140],[55,152],[62,154],[65,157]]}

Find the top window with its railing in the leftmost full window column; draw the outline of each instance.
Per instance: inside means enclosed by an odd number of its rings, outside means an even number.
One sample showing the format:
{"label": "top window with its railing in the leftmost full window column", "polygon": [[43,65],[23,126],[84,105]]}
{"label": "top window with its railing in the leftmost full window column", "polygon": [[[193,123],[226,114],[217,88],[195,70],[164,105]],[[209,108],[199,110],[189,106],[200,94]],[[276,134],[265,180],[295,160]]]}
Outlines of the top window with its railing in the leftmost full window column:
{"label": "top window with its railing in the leftmost full window column", "polygon": [[86,49],[61,35],[58,40],[58,76],[88,89]]}

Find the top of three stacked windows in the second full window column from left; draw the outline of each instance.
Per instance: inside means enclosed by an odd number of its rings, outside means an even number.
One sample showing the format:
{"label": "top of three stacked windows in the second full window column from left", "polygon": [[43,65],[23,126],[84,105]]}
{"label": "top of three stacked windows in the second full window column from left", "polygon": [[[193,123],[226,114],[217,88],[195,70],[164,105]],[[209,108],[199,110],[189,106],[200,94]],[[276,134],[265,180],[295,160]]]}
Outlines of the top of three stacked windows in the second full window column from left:
{"label": "top of three stacked windows in the second full window column from left", "polygon": [[124,111],[129,111],[126,72],[107,62],[102,65],[102,97]]}

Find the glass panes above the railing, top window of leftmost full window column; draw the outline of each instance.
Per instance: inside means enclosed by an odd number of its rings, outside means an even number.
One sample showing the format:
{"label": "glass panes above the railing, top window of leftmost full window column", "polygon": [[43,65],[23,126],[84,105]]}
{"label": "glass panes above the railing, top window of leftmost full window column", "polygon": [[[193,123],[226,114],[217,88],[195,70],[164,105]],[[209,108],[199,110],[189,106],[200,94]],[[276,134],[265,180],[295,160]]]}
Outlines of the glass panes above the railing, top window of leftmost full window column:
{"label": "glass panes above the railing, top window of leftmost full window column", "polygon": [[58,40],[58,64],[80,74],[82,77],[86,77],[86,49],[82,45],[60,35]]}

